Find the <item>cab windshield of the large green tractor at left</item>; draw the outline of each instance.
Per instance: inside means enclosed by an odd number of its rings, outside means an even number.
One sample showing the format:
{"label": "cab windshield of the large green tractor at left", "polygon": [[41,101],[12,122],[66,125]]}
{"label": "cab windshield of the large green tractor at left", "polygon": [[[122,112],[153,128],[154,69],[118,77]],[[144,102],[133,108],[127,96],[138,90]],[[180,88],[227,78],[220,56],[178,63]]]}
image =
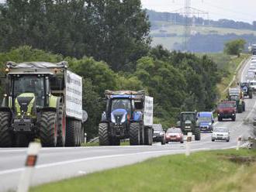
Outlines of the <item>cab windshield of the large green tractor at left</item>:
{"label": "cab windshield of the large green tractor at left", "polygon": [[13,95],[15,98],[19,94],[33,93],[36,97],[36,106],[43,107],[44,92],[43,77],[20,76],[13,79]]}

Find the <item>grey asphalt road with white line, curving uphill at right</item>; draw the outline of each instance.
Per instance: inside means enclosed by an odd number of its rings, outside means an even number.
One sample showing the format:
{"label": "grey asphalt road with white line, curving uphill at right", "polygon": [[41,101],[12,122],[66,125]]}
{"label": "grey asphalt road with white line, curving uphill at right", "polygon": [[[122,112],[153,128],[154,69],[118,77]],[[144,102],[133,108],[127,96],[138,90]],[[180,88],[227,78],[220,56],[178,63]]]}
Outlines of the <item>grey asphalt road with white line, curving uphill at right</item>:
{"label": "grey asphalt road with white line, curving uphill at right", "polygon": [[[248,63],[240,70],[240,76],[246,75]],[[192,141],[192,151],[209,149],[228,149],[237,145],[237,137],[247,136],[250,132],[248,123],[254,117],[256,95],[246,99],[246,111],[237,114],[237,121],[216,122],[215,125],[230,128],[230,142],[212,142],[210,133],[202,133],[201,141]],[[186,143],[171,142],[161,146],[99,146],[77,148],[43,148],[34,171],[33,185],[75,177],[112,167],[137,163],[155,156],[185,153]],[[15,189],[26,159],[25,148],[0,148],[0,191]]]}

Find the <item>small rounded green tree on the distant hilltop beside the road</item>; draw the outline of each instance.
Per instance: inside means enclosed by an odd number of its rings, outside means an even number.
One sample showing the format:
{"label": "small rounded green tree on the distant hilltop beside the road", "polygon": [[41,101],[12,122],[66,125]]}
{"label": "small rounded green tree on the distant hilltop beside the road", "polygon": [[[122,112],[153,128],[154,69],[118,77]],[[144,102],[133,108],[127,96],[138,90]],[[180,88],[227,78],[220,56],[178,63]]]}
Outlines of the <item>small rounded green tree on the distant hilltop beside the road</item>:
{"label": "small rounded green tree on the distant hilltop beside the road", "polygon": [[244,39],[234,39],[225,43],[224,52],[229,55],[240,56],[240,53],[244,50],[246,41]]}

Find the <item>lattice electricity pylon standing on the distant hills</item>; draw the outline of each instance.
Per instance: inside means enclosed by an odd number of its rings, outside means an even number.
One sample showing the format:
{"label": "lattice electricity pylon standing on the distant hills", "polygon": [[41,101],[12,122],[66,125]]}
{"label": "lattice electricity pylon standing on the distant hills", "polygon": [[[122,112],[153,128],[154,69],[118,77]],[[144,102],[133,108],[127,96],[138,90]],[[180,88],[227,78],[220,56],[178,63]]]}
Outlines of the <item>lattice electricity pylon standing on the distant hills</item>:
{"label": "lattice electricity pylon standing on the distant hills", "polygon": [[[182,50],[186,51],[188,49],[188,41],[189,41],[189,37],[191,35],[192,20],[193,19],[195,20],[195,17],[199,18],[199,16],[202,15],[202,17],[207,16],[207,20],[209,21],[209,12],[204,12],[202,10],[192,8],[191,0],[185,0],[184,8],[175,10],[172,13],[182,15],[184,18]],[[176,21],[175,21],[175,23],[176,23]]]}

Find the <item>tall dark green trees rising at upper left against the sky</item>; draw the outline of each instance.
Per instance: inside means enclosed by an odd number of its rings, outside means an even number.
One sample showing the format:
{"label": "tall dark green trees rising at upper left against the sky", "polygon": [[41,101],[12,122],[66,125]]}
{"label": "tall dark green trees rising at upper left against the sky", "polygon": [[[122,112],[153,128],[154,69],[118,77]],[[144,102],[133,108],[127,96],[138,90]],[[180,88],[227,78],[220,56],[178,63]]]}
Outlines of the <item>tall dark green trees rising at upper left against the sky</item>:
{"label": "tall dark green trees rising at upper left against the sky", "polygon": [[0,5],[0,51],[33,46],[134,68],[150,29],[140,0],[7,0]]}

